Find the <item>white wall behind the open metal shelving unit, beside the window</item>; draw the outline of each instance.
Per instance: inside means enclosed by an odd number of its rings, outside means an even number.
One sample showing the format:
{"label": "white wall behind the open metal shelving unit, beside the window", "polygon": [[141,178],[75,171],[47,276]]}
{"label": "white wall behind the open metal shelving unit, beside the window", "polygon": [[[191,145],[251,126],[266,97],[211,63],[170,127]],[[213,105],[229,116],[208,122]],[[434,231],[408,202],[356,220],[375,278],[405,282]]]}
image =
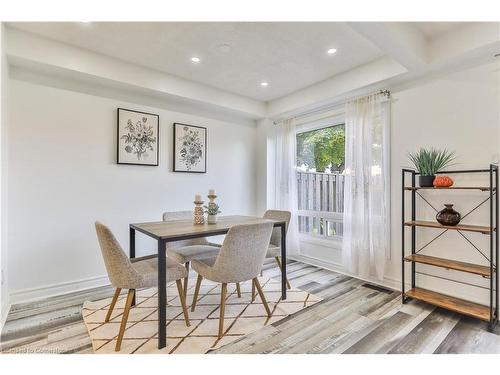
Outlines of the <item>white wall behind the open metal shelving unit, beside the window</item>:
{"label": "white wall behind the open metal shelving unit, beside the window", "polygon": [[[488,168],[489,164],[498,158],[499,152],[498,83],[498,75],[494,74],[494,69],[491,66],[484,66],[442,79],[421,82],[411,88],[393,90],[395,100],[392,104],[391,134],[391,259],[387,261],[386,278],[382,284],[394,288],[400,288],[401,285],[401,169],[410,166],[407,153],[420,147],[448,148],[455,150],[458,155],[459,164],[455,166],[456,169]],[[267,155],[271,157],[271,154],[272,152],[268,150]],[[268,164],[273,163],[268,161]],[[485,175],[479,179],[470,176],[457,177],[456,181],[457,184],[463,181],[463,184],[477,185],[488,182]],[[427,192],[426,195],[435,207],[442,207],[444,203],[455,203],[456,209],[461,213],[468,212],[486,197],[485,193],[457,191],[436,194]],[[434,219],[435,213],[431,209],[426,209],[421,202],[417,210],[422,219]],[[488,218],[485,206],[466,218],[464,223],[488,225]],[[419,243],[425,244],[426,239],[430,240],[432,234],[439,232],[420,229],[418,233]],[[409,231],[406,237],[409,238]],[[469,237],[483,250],[489,251],[486,236],[470,234]],[[481,255],[453,231],[446,233],[427,250],[429,252],[423,253],[487,264]],[[325,251],[325,248],[321,248],[321,251]],[[329,251],[328,257],[333,259],[332,262],[321,263],[311,258],[307,261],[343,272],[340,264],[341,251],[334,248],[326,251]],[[487,280],[481,277],[468,277],[454,271],[425,266],[421,269],[447,278],[487,285]],[[478,302],[487,302],[487,291],[482,289],[472,289],[430,277],[419,276],[417,280],[422,287],[456,294]],[[380,280],[375,278],[371,278],[370,281],[380,283]]]}

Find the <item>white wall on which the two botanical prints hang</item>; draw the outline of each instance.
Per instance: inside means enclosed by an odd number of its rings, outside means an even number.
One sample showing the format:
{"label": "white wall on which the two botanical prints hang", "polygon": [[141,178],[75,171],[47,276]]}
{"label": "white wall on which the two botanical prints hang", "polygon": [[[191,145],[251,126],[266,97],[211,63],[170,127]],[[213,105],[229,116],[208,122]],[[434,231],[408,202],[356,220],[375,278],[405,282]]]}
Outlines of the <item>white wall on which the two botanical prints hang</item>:
{"label": "white wall on which the two botanical prints hang", "polygon": [[[159,167],[116,164],[117,107],[160,115]],[[10,110],[13,301],[105,282],[95,220],[108,224],[127,250],[129,223],[191,209],[194,194],[211,187],[224,214],[255,214],[254,126],[18,80],[11,80]],[[174,121],[208,128],[206,174],[171,172]],[[146,248],[154,242],[138,243],[139,254]]]}

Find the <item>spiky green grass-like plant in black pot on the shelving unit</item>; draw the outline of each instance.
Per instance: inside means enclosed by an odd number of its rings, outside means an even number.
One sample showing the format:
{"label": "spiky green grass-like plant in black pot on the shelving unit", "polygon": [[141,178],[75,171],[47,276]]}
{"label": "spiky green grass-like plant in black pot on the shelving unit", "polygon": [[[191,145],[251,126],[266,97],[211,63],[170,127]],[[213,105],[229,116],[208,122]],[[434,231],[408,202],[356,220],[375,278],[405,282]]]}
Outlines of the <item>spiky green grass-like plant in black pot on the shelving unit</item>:
{"label": "spiky green grass-like plant in black pot on the shelving unit", "polygon": [[420,173],[420,187],[432,187],[436,173],[450,166],[455,160],[455,152],[421,148],[415,153],[409,153],[408,157]]}

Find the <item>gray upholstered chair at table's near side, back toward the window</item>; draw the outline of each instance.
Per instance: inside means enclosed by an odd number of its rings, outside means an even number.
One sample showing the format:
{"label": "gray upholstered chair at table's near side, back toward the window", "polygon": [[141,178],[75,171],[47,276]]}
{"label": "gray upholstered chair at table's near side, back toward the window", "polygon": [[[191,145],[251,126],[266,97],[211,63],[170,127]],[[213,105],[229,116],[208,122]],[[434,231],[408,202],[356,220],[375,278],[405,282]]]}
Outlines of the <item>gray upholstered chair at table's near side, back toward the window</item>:
{"label": "gray upholstered chair at table's near side, back toward the window", "polygon": [[267,316],[271,310],[259,284],[257,276],[262,269],[264,258],[273,230],[272,222],[236,225],[226,234],[220,252],[216,257],[193,260],[193,269],[198,272],[196,289],[191,304],[191,311],[196,308],[196,301],[203,278],[222,284],[219,315],[219,338],[224,333],[224,309],[228,283],[240,283],[252,280],[257,288]]}

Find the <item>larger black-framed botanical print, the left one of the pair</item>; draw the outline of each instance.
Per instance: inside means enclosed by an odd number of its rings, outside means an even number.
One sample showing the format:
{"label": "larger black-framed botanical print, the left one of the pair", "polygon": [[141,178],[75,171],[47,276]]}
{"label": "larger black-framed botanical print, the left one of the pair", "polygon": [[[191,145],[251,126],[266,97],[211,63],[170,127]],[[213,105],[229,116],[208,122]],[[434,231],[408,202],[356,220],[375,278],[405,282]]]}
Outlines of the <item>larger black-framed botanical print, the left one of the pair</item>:
{"label": "larger black-framed botanical print, the left one of the pair", "polygon": [[158,165],[160,116],[118,108],[117,163]]}

